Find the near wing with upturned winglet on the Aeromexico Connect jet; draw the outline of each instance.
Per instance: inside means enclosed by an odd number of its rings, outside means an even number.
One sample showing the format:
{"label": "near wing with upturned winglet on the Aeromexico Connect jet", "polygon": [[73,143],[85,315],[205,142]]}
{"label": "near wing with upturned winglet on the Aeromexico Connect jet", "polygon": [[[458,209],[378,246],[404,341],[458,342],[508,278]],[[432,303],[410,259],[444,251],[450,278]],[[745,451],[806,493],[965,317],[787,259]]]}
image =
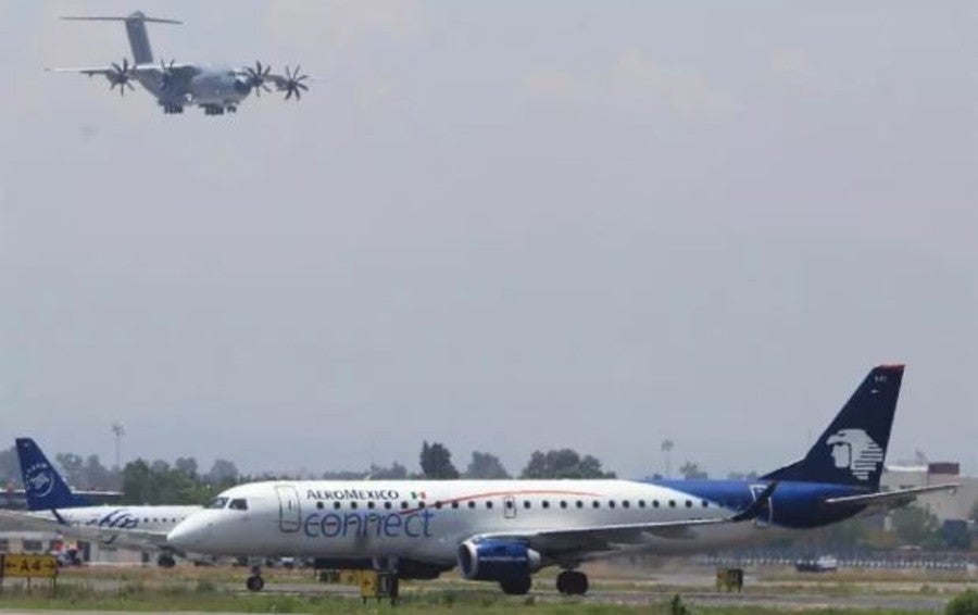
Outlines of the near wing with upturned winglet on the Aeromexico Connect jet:
{"label": "near wing with upturned winglet on the Aeromexico Connect jet", "polygon": [[518,532],[492,532],[478,535],[474,537],[473,540],[523,540],[528,542],[535,549],[546,553],[606,550],[611,549],[614,544],[642,542],[647,535],[656,536],[659,538],[689,540],[694,538],[695,532],[693,529],[698,527],[741,523],[757,518],[764,506],[768,504],[777,486],[777,481],[772,482],[757,495],[757,499],[753,504],[739,513],[726,517],[614,524],[569,529],[550,528]]}

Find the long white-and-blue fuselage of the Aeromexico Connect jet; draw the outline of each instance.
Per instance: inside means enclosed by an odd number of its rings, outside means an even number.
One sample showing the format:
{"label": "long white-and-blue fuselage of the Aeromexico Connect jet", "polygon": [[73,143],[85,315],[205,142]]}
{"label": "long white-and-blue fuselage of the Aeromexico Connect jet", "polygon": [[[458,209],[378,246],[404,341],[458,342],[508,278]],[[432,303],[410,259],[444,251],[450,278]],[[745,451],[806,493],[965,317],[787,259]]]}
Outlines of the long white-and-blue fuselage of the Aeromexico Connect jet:
{"label": "long white-and-blue fuselage of the Aeromexico Connect jet", "polygon": [[[452,567],[459,545],[477,536],[729,517],[751,505],[766,481],[439,480],[261,482],[233,488],[171,534],[181,548],[226,555],[401,557]],[[819,512],[829,497],[863,490],[779,485],[752,522],[636,532],[617,551],[691,553],[772,539],[851,516]],[[231,506],[231,504],[235,504]],[[607,555],[606,545],[566,562]]]}

